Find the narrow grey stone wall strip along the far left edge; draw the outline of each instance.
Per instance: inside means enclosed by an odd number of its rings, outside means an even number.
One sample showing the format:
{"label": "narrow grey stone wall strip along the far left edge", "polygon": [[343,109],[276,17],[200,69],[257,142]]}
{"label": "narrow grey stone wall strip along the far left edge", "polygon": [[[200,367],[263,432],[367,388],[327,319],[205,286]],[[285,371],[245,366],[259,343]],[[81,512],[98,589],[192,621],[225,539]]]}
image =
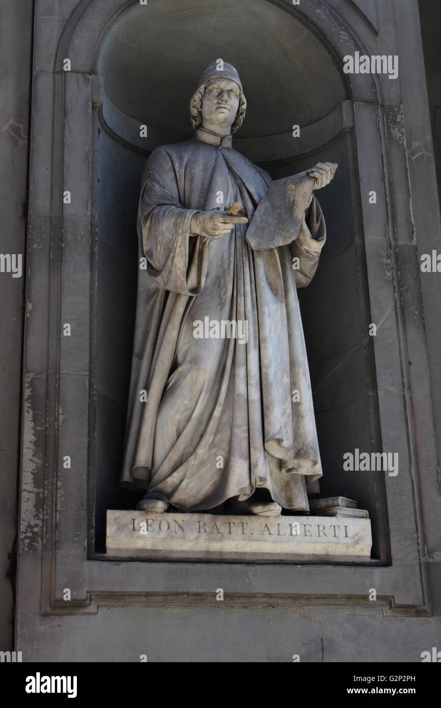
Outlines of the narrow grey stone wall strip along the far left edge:
{"label": "narrow grey stone wall strip along the far left edge", "polygon": [[32,6],[31,0],[1,3],[0,23],[0,253],[19,254],[22,262],[21,278],[0,273],[0,650],[4,651],[13,641],[16,573]]}

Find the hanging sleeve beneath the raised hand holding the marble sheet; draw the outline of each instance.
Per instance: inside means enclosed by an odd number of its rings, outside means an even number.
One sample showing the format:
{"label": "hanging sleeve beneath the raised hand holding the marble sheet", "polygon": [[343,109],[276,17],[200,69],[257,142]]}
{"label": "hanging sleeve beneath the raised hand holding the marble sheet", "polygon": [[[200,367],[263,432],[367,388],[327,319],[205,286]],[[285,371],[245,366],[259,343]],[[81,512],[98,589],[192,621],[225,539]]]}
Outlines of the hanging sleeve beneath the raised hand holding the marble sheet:
{"label": "hanging sleeve beneath the raised hand holding the marble sheet", "polygon": [[306,287],[316,274],[321,249],[326,241],[323,212],[316,198],[305,210],[299,235],[290,244],[292,269],[297,288]]}

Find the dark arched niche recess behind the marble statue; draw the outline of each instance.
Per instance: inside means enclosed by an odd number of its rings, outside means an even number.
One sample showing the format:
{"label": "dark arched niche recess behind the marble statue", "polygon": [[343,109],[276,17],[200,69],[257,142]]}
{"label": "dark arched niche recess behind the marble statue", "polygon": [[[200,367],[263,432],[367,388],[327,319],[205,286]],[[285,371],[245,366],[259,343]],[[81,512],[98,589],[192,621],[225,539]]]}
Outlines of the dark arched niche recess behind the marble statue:
{"label": "dark arched niche recess behind the marble statue", "polygon": [[[225,28],[228,31],[225,32]],[[192,135],[188,103],[205,65],[218,57],[241,75],[248,102],[234,147],[273,178],[316,161],[338,162],[319,193],[328,243],[302,292],[314,407],[323,462],[322,494],[367,508],[379,555],[384,489],[372,473],[343,471],[343,454],[378,450],[372,342],[360,233],[353,91],[336,47],[287,3],[165,0],[132,4],[108,25],[95,56],[103,79],[98,139],[98,307],[96,394],[97,547],[106,508],[131,508],[118,486],[124,444],[136,304],[137,202],[154,147]],[[356,79],[357,80],[357,79]],[[372,101],[372,77],[360,98]],[[140,126],[147,137],[140,137]],[[300,137],[292,136],[299,125]]]}

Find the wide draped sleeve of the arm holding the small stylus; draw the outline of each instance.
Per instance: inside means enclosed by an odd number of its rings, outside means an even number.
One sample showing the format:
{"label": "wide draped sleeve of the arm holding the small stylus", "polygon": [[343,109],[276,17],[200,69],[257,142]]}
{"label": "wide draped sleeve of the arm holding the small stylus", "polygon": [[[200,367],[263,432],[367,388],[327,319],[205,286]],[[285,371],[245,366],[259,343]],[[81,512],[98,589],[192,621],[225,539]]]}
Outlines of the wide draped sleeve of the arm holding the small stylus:
{"label": "wide draped sleeve of the arm holding the small stylus", "polygon": [[198,295],[205,283],[210,239],[190,236],[190,221],[198,211],[181,205],[173,159],[156,149],[144,171],[138,235],[149,275],[181,295]]}

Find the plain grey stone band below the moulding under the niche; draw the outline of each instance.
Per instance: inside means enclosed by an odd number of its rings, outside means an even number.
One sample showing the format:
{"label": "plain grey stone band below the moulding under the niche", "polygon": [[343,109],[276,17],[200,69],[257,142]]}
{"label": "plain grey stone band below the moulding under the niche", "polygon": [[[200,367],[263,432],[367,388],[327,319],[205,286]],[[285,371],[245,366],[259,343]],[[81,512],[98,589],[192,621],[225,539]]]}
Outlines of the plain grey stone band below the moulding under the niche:
{"label": "plain grey stone band below the moulding under the niche", "polygon": [[[288,601],[270,608],[260,599],[244,607],[243,598],[229,595],[226,580],[219,572],[210,601],[181,598],[175,603],[166,597],[164,607],[152,598],[153,606],[101,606],[95,615],[30,615],[18,649],[23,649],[23,661],[138,663],[146,654],[149,663],[292,663],[297,654],[302,666],[411,665],[421,661],[422,651],[440,646],[440,619],[388,617],[372,603],[330,608]],[[215,599],[217,588],[224,590],[223,601]]]}

